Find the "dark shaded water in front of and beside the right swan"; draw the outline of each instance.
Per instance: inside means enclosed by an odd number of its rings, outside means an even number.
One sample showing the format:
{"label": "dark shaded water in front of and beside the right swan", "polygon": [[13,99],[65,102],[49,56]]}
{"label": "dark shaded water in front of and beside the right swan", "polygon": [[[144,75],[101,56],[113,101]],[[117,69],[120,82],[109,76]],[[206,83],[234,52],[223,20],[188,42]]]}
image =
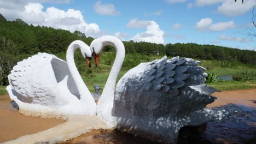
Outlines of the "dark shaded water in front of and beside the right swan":
{"label": "dark shaded water in front of and beside the right swan", "polygon": [[[233,104],[225,105],[232,107]],[[226,117],[221,121],[202,124],[198,127],[186,126],[179,131],[179,144],[187,143],[243,143],[256,134],[256,110],[239,106],[243,112]],[[133,137],[115,130],[93,130],[67,143],[155,143]]]}

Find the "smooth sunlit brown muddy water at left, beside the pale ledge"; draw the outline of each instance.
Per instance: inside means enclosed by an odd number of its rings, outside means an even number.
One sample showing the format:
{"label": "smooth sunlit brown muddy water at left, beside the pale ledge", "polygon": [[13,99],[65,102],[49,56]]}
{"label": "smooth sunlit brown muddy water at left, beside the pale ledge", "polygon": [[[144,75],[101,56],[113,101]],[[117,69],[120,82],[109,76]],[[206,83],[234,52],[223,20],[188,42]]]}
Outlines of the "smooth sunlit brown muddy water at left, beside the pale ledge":
{"label": "smooth sunlit brown muddy water at left, beside the pale ledge", "polygon": [[0,96],[0,143],[34,134],[63,122],[65,121],[61,119],[24,116],[12,108],[8,95]]}

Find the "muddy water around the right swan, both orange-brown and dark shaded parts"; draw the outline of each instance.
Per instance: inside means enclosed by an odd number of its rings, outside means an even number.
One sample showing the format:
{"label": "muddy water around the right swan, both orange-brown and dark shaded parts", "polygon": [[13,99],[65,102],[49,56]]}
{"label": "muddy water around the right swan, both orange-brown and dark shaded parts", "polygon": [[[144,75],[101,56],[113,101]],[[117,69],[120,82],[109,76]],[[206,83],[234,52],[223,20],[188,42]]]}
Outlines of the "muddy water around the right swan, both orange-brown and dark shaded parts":
{"label": "muddy water around the right swan, both orange-brown and dark shaded parts", "polygon": [[[243,112],[199,127],[184,127],[178,143],[242,143],[256,136],[256,89],[214,93],[207,107],[238,106]],[[154,143],[115,130],[93,130],[67,143]]]}

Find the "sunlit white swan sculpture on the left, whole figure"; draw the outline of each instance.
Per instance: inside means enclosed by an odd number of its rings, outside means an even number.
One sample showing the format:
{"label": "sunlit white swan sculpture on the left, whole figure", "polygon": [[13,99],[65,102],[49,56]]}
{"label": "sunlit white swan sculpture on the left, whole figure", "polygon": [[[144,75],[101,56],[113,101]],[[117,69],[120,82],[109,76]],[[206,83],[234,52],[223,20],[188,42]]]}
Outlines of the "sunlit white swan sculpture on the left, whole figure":
{"label": "sunlit white swan sculpture on the left, whole figure", "polygon": [[77,48],[90,67],[90,47],[80,40],[69,45],[67,62],[38,53],[13,67],[7,91],[21,113],[40,117],[96,114],[96,103],[75,67]]}

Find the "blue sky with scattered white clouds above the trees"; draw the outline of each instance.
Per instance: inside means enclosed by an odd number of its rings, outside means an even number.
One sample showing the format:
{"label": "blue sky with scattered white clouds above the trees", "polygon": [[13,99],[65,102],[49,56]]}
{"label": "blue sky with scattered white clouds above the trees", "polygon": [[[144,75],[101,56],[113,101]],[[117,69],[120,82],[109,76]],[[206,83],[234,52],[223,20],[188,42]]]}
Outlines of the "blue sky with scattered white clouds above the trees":
{"label": "blue sky with scattered white clouds above the trees", "polygon": [[[8,3],[7,3],[8,2]],[[256,0],[0,0],[0,13],[33,25],[152,43],[214,44],[256,50],[248,37]]]}

